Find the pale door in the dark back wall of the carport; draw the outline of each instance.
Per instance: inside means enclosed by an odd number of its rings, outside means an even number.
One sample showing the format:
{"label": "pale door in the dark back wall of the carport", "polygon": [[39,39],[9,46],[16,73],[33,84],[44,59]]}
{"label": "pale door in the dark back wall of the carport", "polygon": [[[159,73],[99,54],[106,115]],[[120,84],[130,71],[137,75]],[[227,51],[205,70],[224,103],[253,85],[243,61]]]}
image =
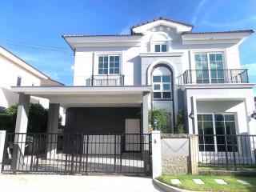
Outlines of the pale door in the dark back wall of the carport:
{"label": "pale door in the dark back wall of the carport", "polygon": [[140,150],[140,119],[126,118],[126,151]]}

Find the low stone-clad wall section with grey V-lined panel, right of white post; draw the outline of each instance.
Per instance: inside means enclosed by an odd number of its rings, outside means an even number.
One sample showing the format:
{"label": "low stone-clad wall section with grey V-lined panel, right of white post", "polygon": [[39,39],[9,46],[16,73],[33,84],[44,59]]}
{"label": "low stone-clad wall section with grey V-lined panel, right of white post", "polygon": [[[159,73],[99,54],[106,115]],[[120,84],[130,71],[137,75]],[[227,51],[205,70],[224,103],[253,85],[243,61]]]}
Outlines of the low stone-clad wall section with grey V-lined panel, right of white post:
{"label": "low stone-clad wall section with grey V-lined panel, right of white post", "polygon": [[161,134],[162,174],[196,174],[195,142],[192,134]]}

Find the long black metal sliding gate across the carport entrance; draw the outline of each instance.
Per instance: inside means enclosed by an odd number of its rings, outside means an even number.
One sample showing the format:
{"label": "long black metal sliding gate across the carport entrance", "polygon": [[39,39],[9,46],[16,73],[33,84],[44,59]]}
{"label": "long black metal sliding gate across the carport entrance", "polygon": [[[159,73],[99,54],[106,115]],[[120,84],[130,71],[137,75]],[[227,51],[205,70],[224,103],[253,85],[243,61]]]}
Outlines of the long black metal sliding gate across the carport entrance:
{"label": "long black metal sliding gate across the carport entrance", "polygon": [[150,174],[150,134],[6,134],[2,171]]}

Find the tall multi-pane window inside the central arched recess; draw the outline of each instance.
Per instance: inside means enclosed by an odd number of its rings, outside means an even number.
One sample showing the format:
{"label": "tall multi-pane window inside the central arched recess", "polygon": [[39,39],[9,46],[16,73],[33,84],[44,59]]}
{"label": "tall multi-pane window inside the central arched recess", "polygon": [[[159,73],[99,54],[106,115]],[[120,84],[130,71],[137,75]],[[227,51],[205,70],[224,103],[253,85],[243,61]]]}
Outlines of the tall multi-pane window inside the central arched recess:
{"label": "tall multi-pane window inside the central arched recess", "polygon": [[154,100],[170,100],[171,73],[166,67],[158,67],[152,73],[152,86]]}

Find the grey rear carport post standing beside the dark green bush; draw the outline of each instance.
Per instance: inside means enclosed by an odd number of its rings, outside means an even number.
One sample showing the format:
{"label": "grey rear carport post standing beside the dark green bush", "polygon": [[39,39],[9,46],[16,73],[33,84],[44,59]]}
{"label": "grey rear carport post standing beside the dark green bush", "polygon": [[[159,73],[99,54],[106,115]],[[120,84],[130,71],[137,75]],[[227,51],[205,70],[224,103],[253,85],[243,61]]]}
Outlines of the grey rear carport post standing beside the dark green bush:
{"label": "grey rear carport post standing beside the dark green bush", "polygon": [[54,158],[58,142],[59,103],[49,103],[47,122],[47,158]]}

